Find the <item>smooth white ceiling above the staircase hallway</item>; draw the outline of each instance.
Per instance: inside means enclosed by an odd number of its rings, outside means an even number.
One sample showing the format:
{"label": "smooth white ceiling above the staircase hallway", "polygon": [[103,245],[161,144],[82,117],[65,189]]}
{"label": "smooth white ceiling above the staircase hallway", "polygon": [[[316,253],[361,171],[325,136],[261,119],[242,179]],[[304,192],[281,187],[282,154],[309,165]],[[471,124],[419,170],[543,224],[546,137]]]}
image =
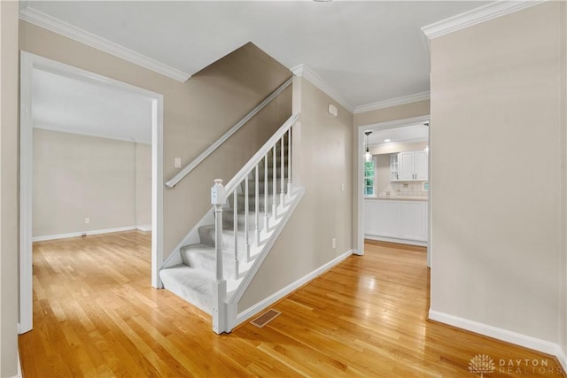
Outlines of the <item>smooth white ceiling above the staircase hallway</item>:
{"label": "smooth white ceiling above the staircase hallway", "polygon": [[284,66],[307,66],[356,109],[427,94],[421,27],[487,3],[30,1],[22,14],[63,21],[59,29],[82,30],[188,75],[253,42]]}

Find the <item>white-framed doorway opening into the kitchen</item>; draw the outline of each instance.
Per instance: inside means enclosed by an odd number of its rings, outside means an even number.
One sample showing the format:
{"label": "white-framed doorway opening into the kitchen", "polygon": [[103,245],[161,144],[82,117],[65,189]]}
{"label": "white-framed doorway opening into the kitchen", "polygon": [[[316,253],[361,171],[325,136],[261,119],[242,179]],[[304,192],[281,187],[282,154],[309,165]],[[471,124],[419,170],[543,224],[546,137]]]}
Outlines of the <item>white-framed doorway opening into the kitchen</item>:
{"label": "white-framed doorway opening into the kitchen", "polygon": [[429,120],[423,116],[358,127],[359,254],[365,238],[421,245],[427,247],[431,267]]}

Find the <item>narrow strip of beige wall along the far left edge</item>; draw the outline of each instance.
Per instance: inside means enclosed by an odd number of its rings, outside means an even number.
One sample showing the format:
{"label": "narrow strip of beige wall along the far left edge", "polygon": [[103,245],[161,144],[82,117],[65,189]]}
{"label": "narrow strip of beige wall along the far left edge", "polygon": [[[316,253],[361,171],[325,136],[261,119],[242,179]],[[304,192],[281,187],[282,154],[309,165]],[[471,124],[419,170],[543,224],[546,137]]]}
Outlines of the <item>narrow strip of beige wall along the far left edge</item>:
{"label": "narrow strip of beige wall along the far left edge", "polygon": [[17,374],[18,2],[0,2],[0,376]]}

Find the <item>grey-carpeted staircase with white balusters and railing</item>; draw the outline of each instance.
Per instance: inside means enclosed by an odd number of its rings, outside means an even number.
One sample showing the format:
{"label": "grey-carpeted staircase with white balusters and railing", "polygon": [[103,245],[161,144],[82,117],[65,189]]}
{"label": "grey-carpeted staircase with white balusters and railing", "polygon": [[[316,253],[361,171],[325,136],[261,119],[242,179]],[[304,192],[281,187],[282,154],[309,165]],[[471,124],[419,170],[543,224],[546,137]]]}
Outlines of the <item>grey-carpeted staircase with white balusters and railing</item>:
{"label": "grey-carpeted staircase with white balusters and railing", "polygon": [[291,116],[226,187],[215,181],[220,201],[212,221],[197,227],[198,243],[184,245],[159,272],[165,289],[213,315],[217,333],[237,325],[238,300],[303,195],[291,183],[297,119]]}

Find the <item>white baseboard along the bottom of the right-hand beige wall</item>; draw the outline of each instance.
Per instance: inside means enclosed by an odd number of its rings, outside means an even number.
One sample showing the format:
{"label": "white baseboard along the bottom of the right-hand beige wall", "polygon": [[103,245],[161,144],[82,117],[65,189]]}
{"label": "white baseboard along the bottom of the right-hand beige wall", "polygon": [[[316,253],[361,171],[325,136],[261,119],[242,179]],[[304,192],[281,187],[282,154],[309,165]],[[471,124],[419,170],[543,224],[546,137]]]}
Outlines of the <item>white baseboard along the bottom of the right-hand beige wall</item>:
{"label": "white baseboard along the bottom of the right-hand beige wall", "polygon": [[565,356],[563,354],[563,351],[556,343],[551,343],[536,337],[518,334],[517,332],[512,332],[508,329],[489,326],[484,323],[479,323],[478,321],[460,318],[458,316],[454,316],[445,312],[438,312],[431,309],[429,310],[429,319],[439,321],[456,328],[466,329],[467,331],[474,332],[483,336],[492,337],[497,340],[505,341],[507,343],[514,343],[516,345],[523,346],[524,348],[551,354],[559,359],[559,361],[562,363],[563,368],[567,367],[563,365],[566,362],[564,359]]}

